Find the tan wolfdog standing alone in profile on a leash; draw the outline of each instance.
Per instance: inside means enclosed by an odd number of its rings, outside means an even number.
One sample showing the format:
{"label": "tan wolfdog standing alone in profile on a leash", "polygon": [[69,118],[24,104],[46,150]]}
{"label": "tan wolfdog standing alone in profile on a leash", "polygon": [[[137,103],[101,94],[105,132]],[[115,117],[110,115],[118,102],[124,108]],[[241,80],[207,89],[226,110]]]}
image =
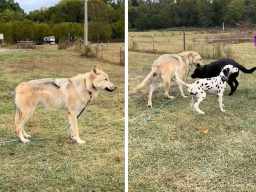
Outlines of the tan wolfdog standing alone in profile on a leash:
{"label": "tan wolfdog standing alone in profile on a leash", "polygon": [[67,110],[72,139],[79,144],[85,143],[79,137],[76,116],[99,90],[112,92],[116,87],[96,65],[90,72],[69,79],[39,79],[19,84],[15,91],[15,127],[20,141],[30,141],[26,139],[31,136],[26,134],[24,125],[37,107],[44,106],[49,110]]}

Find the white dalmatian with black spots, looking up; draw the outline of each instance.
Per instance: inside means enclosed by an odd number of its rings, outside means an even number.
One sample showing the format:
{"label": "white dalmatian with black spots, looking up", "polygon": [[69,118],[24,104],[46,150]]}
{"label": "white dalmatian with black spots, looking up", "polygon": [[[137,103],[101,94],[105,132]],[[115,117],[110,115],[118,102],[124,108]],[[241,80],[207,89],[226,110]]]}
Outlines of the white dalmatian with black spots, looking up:
{"label": "white dalmatian with black spots, looking up", "polygon": [[226,82],[228,80],[228,76],[232,73],[237,73],[238,70],[238,68],[232,65],[226,65],[222,68],[219,76],[200,79],[193,82],[192,84],[183,82],[179,78],[178,73],[176,74],[175,78],[178,83],[184,84],[186,87],[188,87],[188,92],[192,96],[190,106],[194,106],[198,113],[204,114],[204,112],[200,110],[198,106],[200,102],[202,102],[202,100],[204,100],[206,97],[206,92],[217,94],[220,103],[220,110],[225,112],[226,110],[223,109],[225,106],[223,104],[222,96],[226,88]]}

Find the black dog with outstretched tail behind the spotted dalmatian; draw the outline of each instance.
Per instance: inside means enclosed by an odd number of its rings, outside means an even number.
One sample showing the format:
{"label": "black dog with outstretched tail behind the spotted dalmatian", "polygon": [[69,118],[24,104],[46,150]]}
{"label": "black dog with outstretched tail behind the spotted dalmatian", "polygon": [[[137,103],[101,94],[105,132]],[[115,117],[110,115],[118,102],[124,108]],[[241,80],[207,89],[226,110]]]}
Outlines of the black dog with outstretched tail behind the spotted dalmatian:
{"label": "black dog with outstretched tail behind the spotted dalmatian", "polygon": [[[211,78],[218,76],[222,70],[222,68],[226,65],[233,65],[234,67],[240,69],[244,73],[252,73],[254,70],[256,70],[256,67],[251,69],[246,69],[244,66],[238,64],[233,59],[220,59],[218,61],[211,62],[208,65],[204,65],[202,68],[198,69],[196,68],[194,73],[191,75],[191,77],[194,78]],[[236,88],[238,87],[238,81],[236,80],[236,77],[238,77],[239,71],[237,73],[233,73],[228,78],[228,84],[231,88],[231,91],[228,95],[232,95]],[[234,84],[235,86],[234,86]]]}

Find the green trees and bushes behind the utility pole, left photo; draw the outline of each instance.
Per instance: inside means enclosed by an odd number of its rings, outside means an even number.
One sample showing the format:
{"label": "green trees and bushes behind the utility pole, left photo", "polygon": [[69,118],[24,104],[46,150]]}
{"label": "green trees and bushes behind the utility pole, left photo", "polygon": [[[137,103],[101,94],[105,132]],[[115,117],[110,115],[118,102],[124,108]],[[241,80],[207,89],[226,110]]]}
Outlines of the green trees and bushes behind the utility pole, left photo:
{"label": "green trees and bushes behind the utility pole, left photo", "polygon": [[[61,0],[51,7],[24,13],[14,0],[0,0],[0,33],[5,42],[55,36],[56,40],[84,34],[82,0]],[[88,0],[88,40],[124,39],[124,0]]]}

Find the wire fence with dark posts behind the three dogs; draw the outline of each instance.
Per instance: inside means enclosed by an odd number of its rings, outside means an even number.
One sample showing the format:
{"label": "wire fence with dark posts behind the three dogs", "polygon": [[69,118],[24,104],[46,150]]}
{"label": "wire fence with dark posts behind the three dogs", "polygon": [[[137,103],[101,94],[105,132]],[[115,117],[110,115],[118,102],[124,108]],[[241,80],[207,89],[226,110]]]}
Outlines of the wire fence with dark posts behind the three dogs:
{"label": "wire fence with dark posts behind the three dogs", "polygon": [[[143,34],[143,32],[142,32]],[[184,32],[180,37],[174,36],[142,36],[142,35],[130,35],[129,36],[129,50],[137,52],[147,53],[179,53],[185,50],[196,51],[203,58],[206,59],[218,59],[218,58],[234,58],[241,49],[236,49],[241,43],[253,44],[254,38],[240,38],[241,35],[233,34],[231,37],[238,38],[222,38],[224,35],[220,35],[221,38],[209,38],[209,35],[202,36],[202,38],[191,37],[186,38]],[[226,37],[226,36],[224,36]],[[250,36],[249,36],[250,37]]]}

